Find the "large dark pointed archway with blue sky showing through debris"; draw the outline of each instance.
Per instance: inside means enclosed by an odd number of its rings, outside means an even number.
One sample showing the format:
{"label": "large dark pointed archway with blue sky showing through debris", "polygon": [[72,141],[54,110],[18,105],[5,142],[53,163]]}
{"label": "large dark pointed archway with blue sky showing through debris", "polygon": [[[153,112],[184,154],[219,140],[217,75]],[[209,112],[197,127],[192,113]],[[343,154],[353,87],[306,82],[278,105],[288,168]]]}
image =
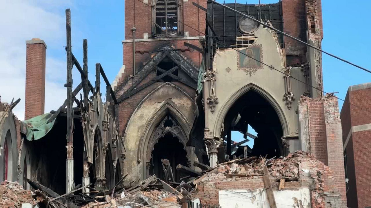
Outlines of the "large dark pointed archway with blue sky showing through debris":
{"label": "large dark pointed archway with blue sky showing through debris", "polygon": [[[256,138],[249,134],[251,130],[257,133]],[[247,147],[249,156],[285,156],[282,136],[282,124],[275,108],[255,89],[240,96],[224,117],[224,132],[221,137],[226,140],[226,154],[230,158],[232,155],[238,157],[244,152],[243,146],[234,147],[233,143],[247,139],[250,140],[250,147]],[[231,144],[232,148],[229,148]]]}

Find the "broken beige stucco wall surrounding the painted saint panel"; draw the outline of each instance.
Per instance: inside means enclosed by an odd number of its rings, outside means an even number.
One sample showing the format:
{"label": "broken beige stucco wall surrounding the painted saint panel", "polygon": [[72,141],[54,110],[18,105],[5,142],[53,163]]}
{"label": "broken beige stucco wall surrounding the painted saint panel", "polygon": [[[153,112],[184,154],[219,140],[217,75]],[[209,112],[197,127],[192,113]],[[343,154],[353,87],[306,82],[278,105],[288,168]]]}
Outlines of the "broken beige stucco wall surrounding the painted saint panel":
{"label": "broken beige stucco wall surrounding the painted saint panel", "polygon": [[[243,69],[243,67],[239,67],[241,64],[239,64],[238,59],[242,57],[239,52],[233,49],[217,51],[213,68],[216,71],[214,87],[219,103],[216,105],[214,113],[209,111],[209,128],[210,131],[213,131],[214,137],[220,137],[221,124],[230,106],[251,88],[263,95],[276,109],[283,124],[284,135],[294,135],[298,130],[298,118],[295,110],[297,109],[297,100],[305,91],[305,85],[291,79],[292,92],[297,98],[296,101],[293,101],[292,108],[289,110],[286,101],[283,101],[283,95],[285,94],[283,72],[286,68],[284,67],[282,50],[275,38],[276,35],[272,34],[269,29],[260,26],[255,32],[255,36],[257,38],[250,47],[261,45],[261,61],[279,71],[264,64],[262,64],[262,68],[256,68],[255,70]],[[237,50],[246,53],[246,48]],[[299,67],[291,68],[290,73],[295,78],[304,81]]]}

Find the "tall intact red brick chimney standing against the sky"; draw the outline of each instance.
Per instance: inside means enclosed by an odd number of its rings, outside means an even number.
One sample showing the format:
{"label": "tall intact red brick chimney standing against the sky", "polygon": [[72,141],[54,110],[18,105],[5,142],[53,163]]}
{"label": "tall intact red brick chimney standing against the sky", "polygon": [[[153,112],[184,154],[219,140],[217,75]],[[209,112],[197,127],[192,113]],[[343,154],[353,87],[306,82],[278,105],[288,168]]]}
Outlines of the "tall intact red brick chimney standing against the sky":
{"label": "tall intact red brick chimney standing against the sky", "polygon": [[46,44],[32,38],[26,41],[26,48],[25,120],[44,114]]}

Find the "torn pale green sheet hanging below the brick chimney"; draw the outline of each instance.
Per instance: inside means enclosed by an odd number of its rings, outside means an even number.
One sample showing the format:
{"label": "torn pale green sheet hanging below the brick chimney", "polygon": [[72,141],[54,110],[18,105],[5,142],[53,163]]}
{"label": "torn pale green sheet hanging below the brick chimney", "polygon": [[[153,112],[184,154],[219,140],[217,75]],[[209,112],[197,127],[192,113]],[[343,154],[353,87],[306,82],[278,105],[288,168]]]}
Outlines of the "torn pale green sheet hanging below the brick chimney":
{"label": "torn pale green sheet hanging below the brick chimney", "polygon": [[47,121],[53,114],[46,113],[22,121],[26,127],[26,137],[28,141],[39,140],[43,138],[54,126],[55,119],[47,124]]}

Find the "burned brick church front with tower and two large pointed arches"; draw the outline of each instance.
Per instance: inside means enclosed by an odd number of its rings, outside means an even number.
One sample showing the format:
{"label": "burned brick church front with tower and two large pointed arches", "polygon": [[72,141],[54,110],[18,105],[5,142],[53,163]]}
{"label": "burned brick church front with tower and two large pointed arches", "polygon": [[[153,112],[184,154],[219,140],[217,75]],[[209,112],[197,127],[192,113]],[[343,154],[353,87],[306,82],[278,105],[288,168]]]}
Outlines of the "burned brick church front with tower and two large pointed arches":
{"label": "burned brick church front with tower and two large pointed arches", "polygon": [[177,164],[304,150],[339,170],[344,197],[338,103],[323,94],[321,52],[272,29],[321,48],[321,1],[223,5],[125,1],[124,65],[112,85],[128,181],[161,177],[162,159],[176,175]]}

